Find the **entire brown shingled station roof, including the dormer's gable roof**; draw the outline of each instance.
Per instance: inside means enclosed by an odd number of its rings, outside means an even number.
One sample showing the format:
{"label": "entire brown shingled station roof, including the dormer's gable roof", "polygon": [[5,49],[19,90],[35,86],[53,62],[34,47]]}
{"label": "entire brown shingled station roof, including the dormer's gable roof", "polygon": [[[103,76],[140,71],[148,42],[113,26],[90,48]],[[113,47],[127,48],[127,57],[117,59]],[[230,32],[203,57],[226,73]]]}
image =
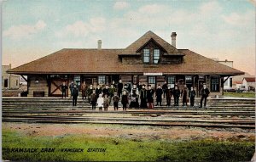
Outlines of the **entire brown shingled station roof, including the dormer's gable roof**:
{"label": "entire brown shingled station roof, including the dormer's gable roof", "polygon": [[[145,38],[147,37],[147,39]],[[154,39],[167,53],[183,55],[182,64],[122,64],[120,53],[135,54],[143,43]],[[169,43],[148,31],[144,36],[125,49],[61,49],[44,58],[8,71],[13,74],[143,74],[163,73],[164,75],[243,75],[212,59],[207,59],[188,49],[176,49]]]}

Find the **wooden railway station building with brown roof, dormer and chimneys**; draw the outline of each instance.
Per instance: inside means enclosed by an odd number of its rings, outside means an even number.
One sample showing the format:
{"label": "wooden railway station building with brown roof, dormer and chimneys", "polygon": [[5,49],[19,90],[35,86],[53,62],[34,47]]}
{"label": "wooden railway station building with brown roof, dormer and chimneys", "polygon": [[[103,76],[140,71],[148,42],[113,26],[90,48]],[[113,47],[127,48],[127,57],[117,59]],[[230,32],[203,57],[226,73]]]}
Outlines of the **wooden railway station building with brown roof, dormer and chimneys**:
{"label": "wooden railway station building with brown roof, dormer and chimneys", "polygon": [[[63,81],[83,81],[94,87],[98,84],[130,82],[150,84],[152,87],[175,84],[195,87],[197,95],[203,83],[210,95],[223,95],[224,81],[232,75],[244,72],[208,59],[189,49],[177,49],[175,32],[172,42],[166,42],[152,31],[122,49],[104,49],[102,41],[97,48],[64,48],[44,58],[20,65],[8,71],[9,74],[27,75],[28,97],[61,96]],[[225,79],[224,79],[225,78]],[[70,94],[70,92],[68,92]]]}

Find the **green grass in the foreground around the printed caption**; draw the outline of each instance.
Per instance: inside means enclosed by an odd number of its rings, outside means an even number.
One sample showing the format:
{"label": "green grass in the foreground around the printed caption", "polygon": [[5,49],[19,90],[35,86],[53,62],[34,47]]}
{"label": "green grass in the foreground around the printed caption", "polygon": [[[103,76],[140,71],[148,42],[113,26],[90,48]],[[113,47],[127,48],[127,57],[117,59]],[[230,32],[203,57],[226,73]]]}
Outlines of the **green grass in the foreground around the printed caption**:
{"label": "green grass in the foreground around the printed caption", "polygon": [[[9,153],[6,148],[55,148],[54,153]],[[63,153],[61,148],[84,148],[83,153]],[[107,148],[105,153],[88,148]],[[219,142],[212,139],[190,142],[140,141],[110,137],[68,135],[27,137],[3,130],[3,159],[29,161],[248,161],[253,142]]]}

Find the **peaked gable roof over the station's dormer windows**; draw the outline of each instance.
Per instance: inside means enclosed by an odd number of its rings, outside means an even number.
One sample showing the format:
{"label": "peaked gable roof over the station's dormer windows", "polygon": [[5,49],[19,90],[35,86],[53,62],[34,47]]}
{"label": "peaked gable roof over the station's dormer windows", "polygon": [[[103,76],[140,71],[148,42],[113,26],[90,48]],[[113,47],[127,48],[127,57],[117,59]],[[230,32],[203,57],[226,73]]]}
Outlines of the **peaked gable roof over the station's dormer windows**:
{"label": "peaked gable roof over the station's dormer windows", "polygon": [[147,44],[150,40],[154,40],[160,47],[165,49],[165,51],[168,54],[175,54],[178,53],[177,48],[173,47],[171,44],[160,38],[160,36],[157,36],[152,31],[146,32],[143,36],[141,36],[139,39],[137,39],[136,42],[131,43],[130,46],[126,47],[121,55],[125,54],[139,54],[137,51],[141,49],[145,44]]}

